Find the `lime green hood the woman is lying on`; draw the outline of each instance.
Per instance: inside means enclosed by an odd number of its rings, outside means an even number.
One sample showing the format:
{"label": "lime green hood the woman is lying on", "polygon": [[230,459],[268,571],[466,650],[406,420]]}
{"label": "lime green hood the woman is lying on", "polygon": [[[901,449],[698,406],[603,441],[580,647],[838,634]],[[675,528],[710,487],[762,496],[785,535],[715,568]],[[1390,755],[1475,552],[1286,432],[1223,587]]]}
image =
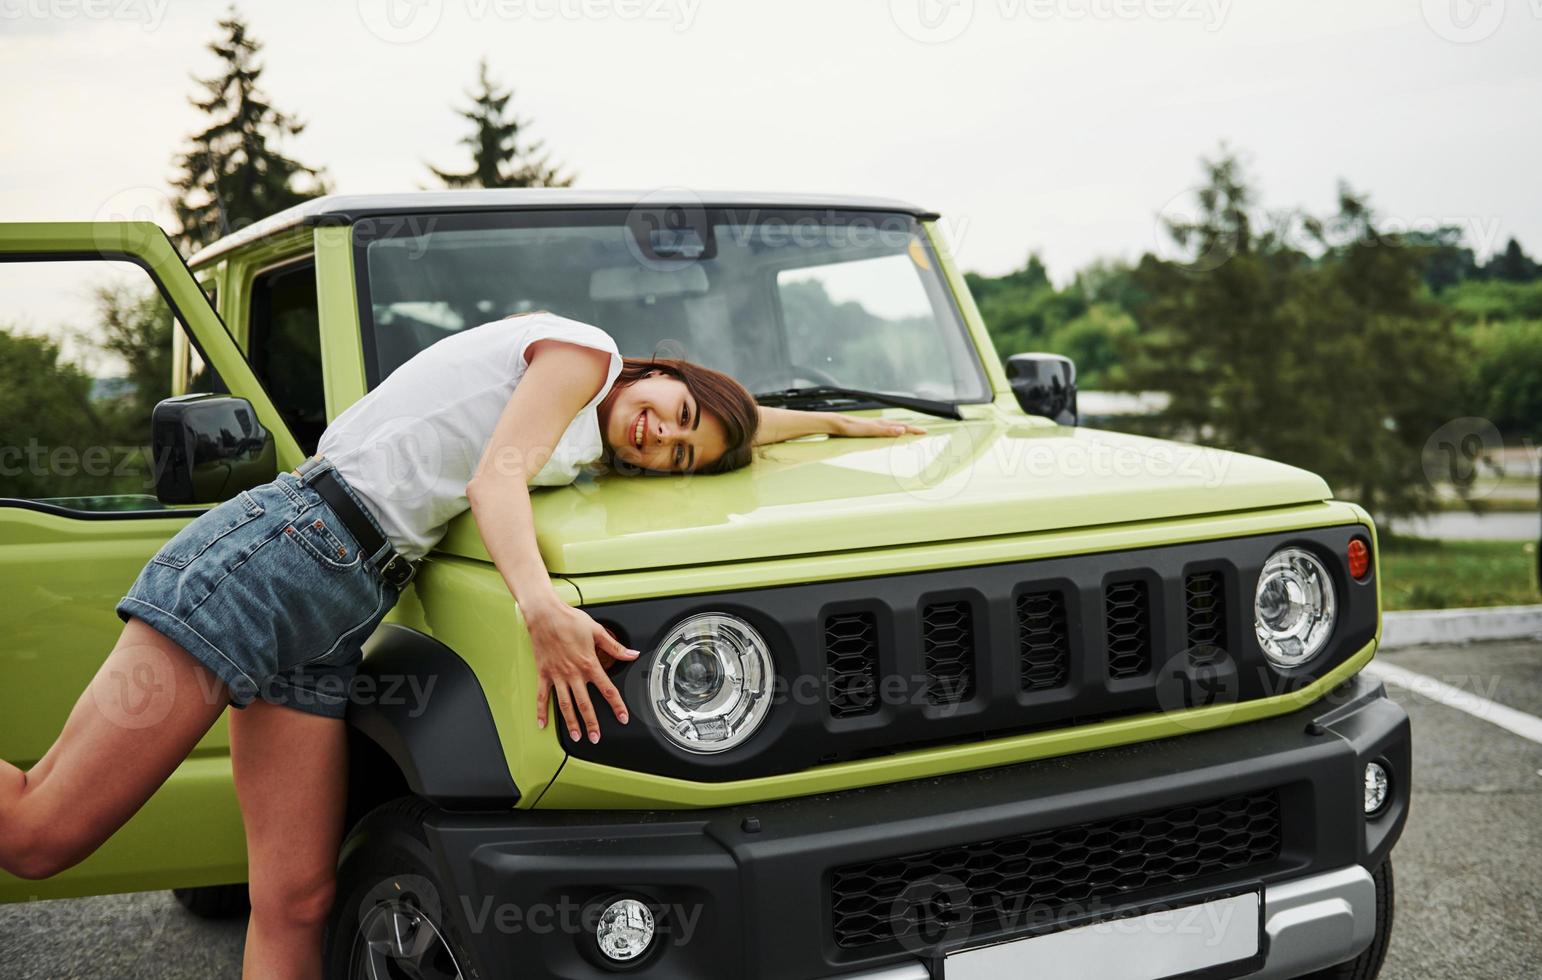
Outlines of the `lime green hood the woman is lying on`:
{"label": "lime green hood the woman is lying on", "polygon": [[[1297,467],[1032,418],[810,436],[717,476],[584,476],[532,492],[554,575],[594,575],[1092,527],[1329,499]],[[470,513],[441,552],[487,559]]]}

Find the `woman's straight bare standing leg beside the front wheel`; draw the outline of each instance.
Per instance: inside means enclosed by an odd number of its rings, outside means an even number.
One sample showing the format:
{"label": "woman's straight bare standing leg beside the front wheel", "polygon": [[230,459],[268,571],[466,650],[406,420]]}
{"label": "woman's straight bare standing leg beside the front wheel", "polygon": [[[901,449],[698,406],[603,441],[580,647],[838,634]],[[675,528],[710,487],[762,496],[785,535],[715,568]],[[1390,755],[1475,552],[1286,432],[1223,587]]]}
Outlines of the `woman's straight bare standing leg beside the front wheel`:
{"label": "woman's straight bare standing leg beside the front wheel", "polygon": [[319,980],[347,804],[342,721],[253,701],[230,717],[251,918],[242,975]]}

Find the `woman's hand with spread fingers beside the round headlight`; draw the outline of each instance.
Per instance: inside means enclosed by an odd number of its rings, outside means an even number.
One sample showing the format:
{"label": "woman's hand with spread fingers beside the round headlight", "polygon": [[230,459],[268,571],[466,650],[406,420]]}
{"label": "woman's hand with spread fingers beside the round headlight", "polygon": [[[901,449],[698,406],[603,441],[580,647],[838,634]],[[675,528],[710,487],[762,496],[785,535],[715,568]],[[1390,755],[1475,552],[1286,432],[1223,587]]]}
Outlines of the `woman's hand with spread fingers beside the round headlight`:
{"label": "woman's hand with spread fingers beside the round headlight", "polygon": [[[530,632],[530,647],[535,653],[535,672],[540,690],[535,695],[535,721],[546,727],[546,713],[552,690],[557,690],[557,707],[567,733],[578,741],[578,718],[589,732],[589,741],[600,741],[600,720],[589,701],[589,684],[611,704],[615,718],[628,723],[626,703],[606,675],[606,664],[618,659],[637,659],[638,652],[625,647],[608,629],[589,618],[581,609],[563,602],[555,595],[549,602],[524,612]],[[574,712],[577,709],[577,713]]]}

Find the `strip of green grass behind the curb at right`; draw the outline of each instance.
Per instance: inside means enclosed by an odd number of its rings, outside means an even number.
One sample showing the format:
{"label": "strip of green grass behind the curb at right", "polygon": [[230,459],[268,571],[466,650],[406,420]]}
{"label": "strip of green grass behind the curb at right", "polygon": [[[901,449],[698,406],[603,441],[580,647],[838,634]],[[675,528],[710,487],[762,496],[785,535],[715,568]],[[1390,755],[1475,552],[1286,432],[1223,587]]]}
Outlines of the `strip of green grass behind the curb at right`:
{"label": "strip of green grass behind the curb at right", "polygon": [[1523,606],[1537,595],[1536,541],[1433,541],[1382,535],[1382,604],[1396,609]]}

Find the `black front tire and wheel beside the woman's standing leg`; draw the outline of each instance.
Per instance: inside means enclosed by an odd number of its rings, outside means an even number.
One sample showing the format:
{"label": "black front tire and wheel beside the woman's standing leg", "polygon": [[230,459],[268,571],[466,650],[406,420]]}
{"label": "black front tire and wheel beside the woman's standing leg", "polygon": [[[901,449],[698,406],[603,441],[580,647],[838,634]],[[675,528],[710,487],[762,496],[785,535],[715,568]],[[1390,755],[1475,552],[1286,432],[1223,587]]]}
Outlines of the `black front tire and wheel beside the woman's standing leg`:
{"label": "black front tire and wheel beside the woman's standing leg", "polygon": [[435,871],[423,832],[433,806],[402,797],[348,834],[322,946],[327,980],[424,977],[478,980],[455,920],[453,889]]}

